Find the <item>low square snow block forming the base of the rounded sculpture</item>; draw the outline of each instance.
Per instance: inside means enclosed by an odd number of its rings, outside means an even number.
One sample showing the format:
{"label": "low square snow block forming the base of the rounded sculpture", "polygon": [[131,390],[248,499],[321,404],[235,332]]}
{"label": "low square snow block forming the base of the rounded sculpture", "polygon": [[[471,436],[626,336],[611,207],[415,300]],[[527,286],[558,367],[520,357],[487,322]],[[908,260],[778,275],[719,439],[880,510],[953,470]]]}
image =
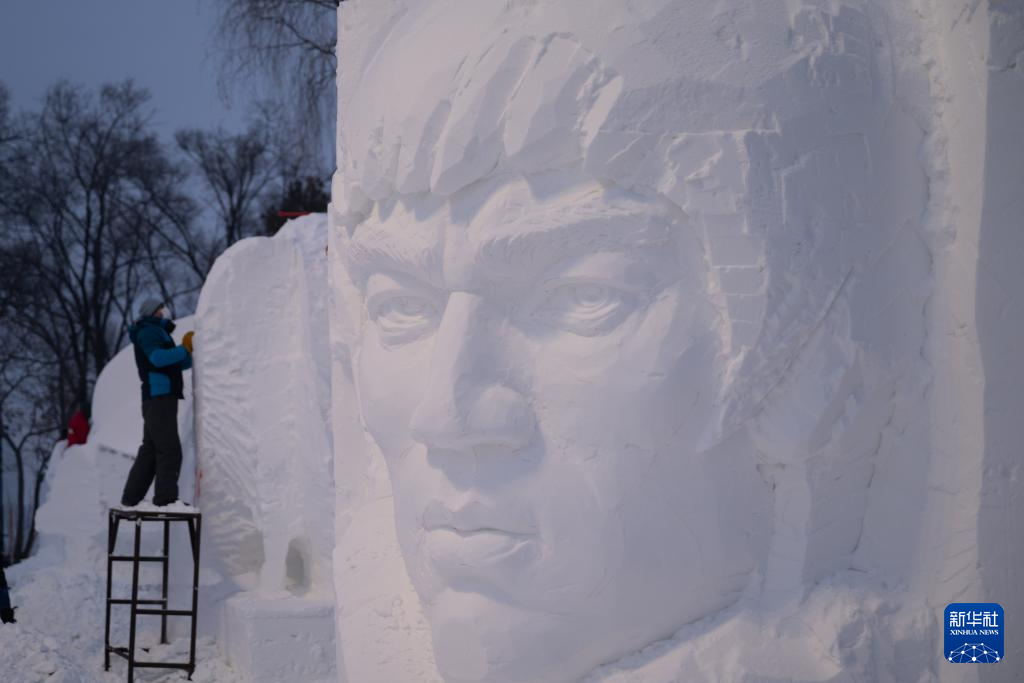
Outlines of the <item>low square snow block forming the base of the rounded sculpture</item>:
{"label": "low square snow block forming the base of the rounded sculpture", "polygon": [[[334,602],[246,592],[224,607],[224,656],[251,683],[334,683]],[[301,655],[299,655],[301,653]]]}

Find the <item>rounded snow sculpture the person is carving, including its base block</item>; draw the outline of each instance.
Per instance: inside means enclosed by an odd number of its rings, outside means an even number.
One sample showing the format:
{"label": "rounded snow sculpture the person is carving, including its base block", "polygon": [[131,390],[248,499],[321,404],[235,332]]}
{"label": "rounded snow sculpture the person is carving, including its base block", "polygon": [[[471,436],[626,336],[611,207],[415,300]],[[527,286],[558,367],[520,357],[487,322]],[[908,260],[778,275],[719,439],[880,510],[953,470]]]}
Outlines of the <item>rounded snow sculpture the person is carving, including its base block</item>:
{"label": "rounded snow sculpture the person is carving, including its base block", "polygon": [[233,245],[196,315],[199,504],[243,589],[224,605],[225,653],[254,683],[335,677],[326,242],[310,216]]}

